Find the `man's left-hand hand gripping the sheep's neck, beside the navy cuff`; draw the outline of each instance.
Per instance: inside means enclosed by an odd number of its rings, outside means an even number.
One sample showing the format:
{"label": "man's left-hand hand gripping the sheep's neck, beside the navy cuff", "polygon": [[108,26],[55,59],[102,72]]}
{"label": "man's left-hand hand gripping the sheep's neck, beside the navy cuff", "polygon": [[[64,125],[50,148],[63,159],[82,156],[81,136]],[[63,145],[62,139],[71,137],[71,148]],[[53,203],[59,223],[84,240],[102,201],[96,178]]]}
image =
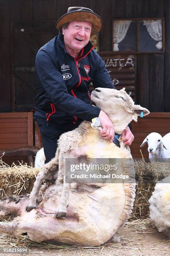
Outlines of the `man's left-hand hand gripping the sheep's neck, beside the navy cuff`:
{"label": "man's left-hand hand gripping the sheep's neck, beside the navy cuff", "polygon": [[113,138],[115,136],[115,132],[114,132],[114,128],[113,128],[112,122],[110,121],[110,119],[106,115],[106,113],[103,112],[102,110],[100,110],[99,118],[100,118],[100,123],[102,125],[102,131],[100,131],[99,134],[105,140],[109,139],[110,142],[112,142]]}

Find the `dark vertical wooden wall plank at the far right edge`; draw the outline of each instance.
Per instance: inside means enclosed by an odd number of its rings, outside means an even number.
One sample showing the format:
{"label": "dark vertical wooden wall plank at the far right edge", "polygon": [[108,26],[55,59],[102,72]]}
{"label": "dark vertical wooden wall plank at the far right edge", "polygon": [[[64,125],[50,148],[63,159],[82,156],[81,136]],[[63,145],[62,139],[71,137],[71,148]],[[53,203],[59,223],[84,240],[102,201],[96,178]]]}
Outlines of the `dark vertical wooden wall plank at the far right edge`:
{"label": "dark vertical wooden wall plank at the far right edge", "polygon": [[170,112],[170,1],[165,4],[165,66],[164,66],[164,111]]}

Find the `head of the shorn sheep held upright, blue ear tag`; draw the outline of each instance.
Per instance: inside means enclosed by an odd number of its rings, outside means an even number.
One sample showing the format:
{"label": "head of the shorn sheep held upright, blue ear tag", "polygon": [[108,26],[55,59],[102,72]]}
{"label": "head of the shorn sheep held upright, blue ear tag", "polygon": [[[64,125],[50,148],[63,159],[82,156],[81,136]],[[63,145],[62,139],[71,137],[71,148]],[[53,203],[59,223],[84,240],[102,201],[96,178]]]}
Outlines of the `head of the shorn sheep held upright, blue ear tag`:
{"label": "head of the shorn sheep held upright, blue ear tag", "polygon": [[96,106],[102,109],[107,115],[117,113],[118,110],[132,114],[132,119],[137,121],[143,111],[143,115],[148,115],[150,112],[141,107],[135,105],[132,98],[125,92],[125,88],[122,90],[114,90],[109,88],[96,88],[92,92],[92,101]]}

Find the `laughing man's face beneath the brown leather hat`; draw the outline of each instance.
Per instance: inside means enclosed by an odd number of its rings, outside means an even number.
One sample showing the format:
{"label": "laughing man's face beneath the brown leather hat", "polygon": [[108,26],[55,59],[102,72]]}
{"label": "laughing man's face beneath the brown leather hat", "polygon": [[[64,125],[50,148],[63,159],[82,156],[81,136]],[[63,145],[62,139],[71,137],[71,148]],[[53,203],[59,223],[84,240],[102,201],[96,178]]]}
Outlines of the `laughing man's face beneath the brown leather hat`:
{"label": "laughing man's face beneath the brown leather hat", "polygon": [[67,28],[62,28],[67,51],[79,52],[90,39],[92,24],[86,21],[72,21]]}

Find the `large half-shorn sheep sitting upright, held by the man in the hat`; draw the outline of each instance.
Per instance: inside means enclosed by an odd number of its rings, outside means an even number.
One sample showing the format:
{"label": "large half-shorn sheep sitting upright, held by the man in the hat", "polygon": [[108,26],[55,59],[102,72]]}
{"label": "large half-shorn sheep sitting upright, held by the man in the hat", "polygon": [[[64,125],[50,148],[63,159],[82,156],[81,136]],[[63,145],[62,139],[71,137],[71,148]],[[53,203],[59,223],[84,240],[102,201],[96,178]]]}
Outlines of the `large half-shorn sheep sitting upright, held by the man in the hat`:
{"label": "large half-shorn sheep sitting upright, held by the man in the hat", "polygon": [[[115,133],[121,134],[131,120],[137,121],[141,111],[149,111],[140,105],[134,105],[124,89],[97,88],[92,92],[92,100],[112,120]],[[28,233],[34,241],[59,241],[80,246],[101,245],[115,235],[126,222],[135,199],[134,166],[132,161],[122,166],[122,174],[128,180],[100,184],[65,183],[65,159],[77,158],[132,158],[128,146],[120,142],[104,140],[97,130],[91,128],[90,122],[83,121],[78,128],[64,133],[58,141],[55,158],[41,169],[34,187],[28,197],[18,199],[18,204],[10,206],[8,198],[0,201],[3,216],[5,212],[20,209],[20,216],[13,222],[0,223],[0,232],[17,236]],[[45,190],[44,200],[37,204],[39,190],[43,179],[52,179],[58,171],[56,184]],[[64,183],[63,183],[64,182]],[[70,195],[69,195],[70,192]],[[69,195],[69,197],[68,197]],[[25,211],[25,205],[28,205]],[[68,205],[68,207],[67,207]],[[35,209],[33,209],[35,208]],[[62,217],[64,218],[54,218]]]}

